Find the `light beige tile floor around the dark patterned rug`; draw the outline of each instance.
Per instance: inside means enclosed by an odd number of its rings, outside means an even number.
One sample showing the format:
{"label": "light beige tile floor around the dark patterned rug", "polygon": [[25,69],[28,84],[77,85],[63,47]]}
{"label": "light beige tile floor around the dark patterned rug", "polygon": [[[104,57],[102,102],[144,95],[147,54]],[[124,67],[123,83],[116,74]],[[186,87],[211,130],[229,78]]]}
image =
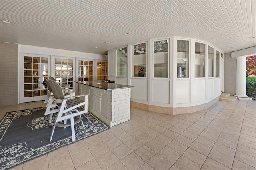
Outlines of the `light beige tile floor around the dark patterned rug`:
{"label": "light beige tile floor around the dark patterned rug", "polygon": [[[42,106],[1,107],[0,118]],[[256,101],[219,101],[182,115],[132,108],[130,121],[13,169],[256,170]]]}

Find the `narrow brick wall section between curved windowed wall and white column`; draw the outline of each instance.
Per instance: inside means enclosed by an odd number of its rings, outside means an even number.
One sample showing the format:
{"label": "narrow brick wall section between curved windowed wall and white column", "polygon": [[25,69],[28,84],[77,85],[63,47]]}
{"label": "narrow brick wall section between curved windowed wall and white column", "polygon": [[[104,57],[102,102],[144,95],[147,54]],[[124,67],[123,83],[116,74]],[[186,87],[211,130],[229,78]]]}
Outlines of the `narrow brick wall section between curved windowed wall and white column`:
{"label": "narrow brick wall section between curved windowed wall and white column", "polygon": [[236,59],[231,58],[231,53],[225,54],[224,92],[236,94]]}

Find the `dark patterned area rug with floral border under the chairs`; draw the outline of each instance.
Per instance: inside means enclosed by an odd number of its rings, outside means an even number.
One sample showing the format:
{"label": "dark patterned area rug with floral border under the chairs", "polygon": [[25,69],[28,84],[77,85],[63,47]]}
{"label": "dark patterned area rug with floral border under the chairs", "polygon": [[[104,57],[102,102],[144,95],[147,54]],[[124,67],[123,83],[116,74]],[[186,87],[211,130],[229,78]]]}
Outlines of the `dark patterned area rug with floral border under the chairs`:
{"label": "dark patterned area rug with floral border under the chairs", "polygon": [[[71,127],[56,127],[49,141],[53,123],[44,115],[45,107],[6,113],[0,123],[0,169],[12,168],[20,163],[71,144]],[[54,115],[52,122],[54,122]],[[76,141],[87,138],[107,127],[90,113],[83,115],[82,124],[76,124]],[[76,142],[75,141],[75,142]]]}

